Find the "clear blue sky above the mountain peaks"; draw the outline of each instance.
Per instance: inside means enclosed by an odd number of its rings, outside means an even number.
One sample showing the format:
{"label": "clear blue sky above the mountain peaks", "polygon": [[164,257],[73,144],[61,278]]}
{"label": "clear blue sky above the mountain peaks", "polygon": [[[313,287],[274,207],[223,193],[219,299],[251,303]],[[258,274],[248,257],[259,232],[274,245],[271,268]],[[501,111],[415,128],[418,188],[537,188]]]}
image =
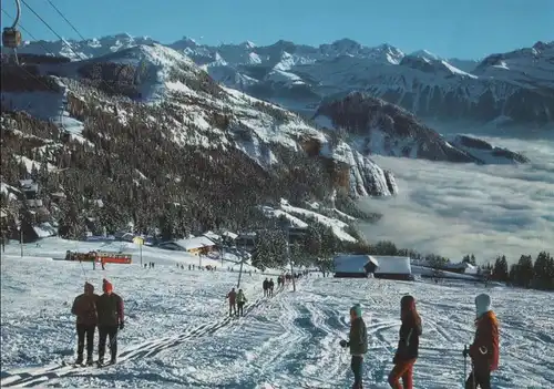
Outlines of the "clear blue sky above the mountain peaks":
{"label": "clear blue sky above the mountain peaks", "polygon": [[[59,34],[79,39],[47,0],[24,1]],[[468,59],[554,40],[554,0],[51,1],[85,38],[127,32],[163,43],[186,35],[206,44],[249,40],[259,45],[350,38]],[[2,9],[13,16],[14,0],[3,0]],[[37,39],[57,39],[24,6],[22,12],[21,24]],[[2,13],[2,28],[10,23]]]}

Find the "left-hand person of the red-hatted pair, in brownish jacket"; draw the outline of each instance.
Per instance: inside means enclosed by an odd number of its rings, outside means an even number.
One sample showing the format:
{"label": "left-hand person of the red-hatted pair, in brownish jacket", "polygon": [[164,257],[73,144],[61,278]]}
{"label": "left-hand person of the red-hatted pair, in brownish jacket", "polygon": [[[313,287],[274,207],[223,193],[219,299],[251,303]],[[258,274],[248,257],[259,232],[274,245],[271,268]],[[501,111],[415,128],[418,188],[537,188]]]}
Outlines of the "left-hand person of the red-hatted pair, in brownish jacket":
{"label": "left-hand person of the red-hatted pair, in brownish jacket", "polygon": [[71,313],[76,316],[76,360],[75,365],[83,364],[84,339],[86,337],[86,365],[92,365],[92,350],[94,348],[94,331],[96,330],[98,315],[94,286],[84,283],[84,293],[75,297]]}

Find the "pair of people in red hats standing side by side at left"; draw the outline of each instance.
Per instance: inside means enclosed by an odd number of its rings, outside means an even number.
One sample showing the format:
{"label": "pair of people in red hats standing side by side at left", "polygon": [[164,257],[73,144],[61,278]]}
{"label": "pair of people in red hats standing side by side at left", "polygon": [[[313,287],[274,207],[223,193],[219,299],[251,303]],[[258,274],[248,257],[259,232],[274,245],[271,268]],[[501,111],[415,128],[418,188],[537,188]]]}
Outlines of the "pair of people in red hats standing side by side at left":
{"label": "pair of people in red hats standing side by side at left", "polygon": [[86,339],[86,365],[93,365],[94,332],[99,328],[99,360],[104,365],[105,346],[110,339],[110,364],[116,362],[117,331],[124,327],[123,299],[113,291],[113,285],[102,280],[102,295],[94,293],[94,286],[84,284],[84,293],[73,301],[71,313],[76,316],[78,357],[75,365],[83,364],[83,351]]}

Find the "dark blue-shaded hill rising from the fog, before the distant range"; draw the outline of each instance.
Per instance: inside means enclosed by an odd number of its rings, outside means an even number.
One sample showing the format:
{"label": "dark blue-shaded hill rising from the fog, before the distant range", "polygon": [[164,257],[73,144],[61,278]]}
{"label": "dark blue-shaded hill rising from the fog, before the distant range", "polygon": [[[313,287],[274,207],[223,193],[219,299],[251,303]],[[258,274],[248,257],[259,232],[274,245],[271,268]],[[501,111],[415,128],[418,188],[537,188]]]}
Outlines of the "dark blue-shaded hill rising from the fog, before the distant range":
{"label": "dark blue-shaded hill rising from the fog, before the distant range", "polygon": [[529,162],[521,154],[494,149],[481,140],[458,136],[449,142],[406,110],[359,92],[322,103],[315,120],[346,130],[349,143],[363,155],[480,164]]}

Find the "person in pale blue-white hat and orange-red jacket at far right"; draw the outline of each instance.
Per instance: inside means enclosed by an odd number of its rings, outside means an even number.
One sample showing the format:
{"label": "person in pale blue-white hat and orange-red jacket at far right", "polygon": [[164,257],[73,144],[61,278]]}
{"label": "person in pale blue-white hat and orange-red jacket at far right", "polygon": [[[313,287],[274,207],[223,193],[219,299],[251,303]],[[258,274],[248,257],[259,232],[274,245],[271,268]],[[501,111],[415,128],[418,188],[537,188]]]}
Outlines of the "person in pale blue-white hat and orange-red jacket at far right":
{"label": "person in pale blue-white hat and orange-red jacket at far right", "polygon": [[491,296],[475,297],[475,338],[473,345],[463,351],[471,357],[472,371],[465,381],[465,389],[490,389],[491,371],[499,368],[499,320],[491,308]]}

